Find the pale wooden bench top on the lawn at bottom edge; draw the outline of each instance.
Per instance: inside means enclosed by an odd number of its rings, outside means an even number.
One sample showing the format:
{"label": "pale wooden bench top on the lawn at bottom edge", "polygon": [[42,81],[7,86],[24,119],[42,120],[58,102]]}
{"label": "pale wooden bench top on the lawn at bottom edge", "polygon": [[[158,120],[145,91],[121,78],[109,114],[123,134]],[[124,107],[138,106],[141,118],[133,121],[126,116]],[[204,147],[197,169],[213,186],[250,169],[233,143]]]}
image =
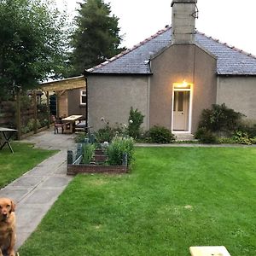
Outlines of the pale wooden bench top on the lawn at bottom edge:
{"label": "pale wooden bench top on the lawn at bottom edge", "polygon": [[219,247],[189,247],[192,256],[230,256],[224,246]]}

